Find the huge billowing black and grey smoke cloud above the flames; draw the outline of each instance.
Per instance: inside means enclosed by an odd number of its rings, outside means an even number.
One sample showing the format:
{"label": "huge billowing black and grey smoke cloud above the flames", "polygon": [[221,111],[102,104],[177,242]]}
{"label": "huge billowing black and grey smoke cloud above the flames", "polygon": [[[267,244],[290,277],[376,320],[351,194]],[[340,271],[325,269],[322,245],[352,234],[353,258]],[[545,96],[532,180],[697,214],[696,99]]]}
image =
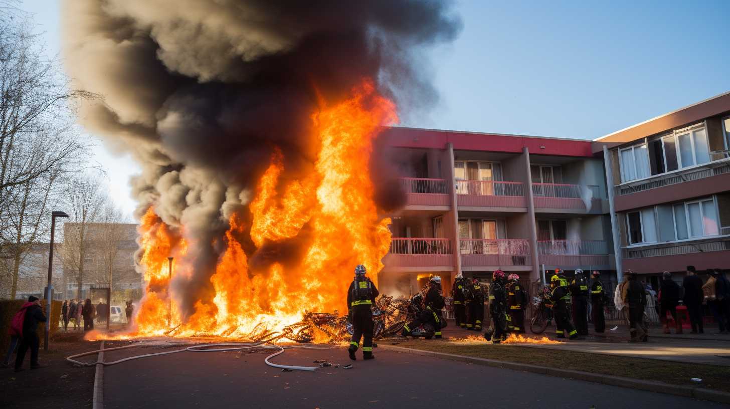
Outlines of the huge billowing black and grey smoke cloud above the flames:
{"label": "huge billowing black and grey smoke cloud above the flames", "polygon": [[[142,164],[131,180],[138,215],[155,204],[195,237],[199,273],[175,283],[190,294],[188,312],[210,286],[215,239],[274,147],[286,177],[310,170],[311,113],[364,77],[399,115],[428,109],[437,93],[424,52],[461,29],[450,1],[66,0],[62,9],[66,70],[104,96],[81,107],[81,123]],[[373,177],[380,208],[397,207],[392,174]]]}

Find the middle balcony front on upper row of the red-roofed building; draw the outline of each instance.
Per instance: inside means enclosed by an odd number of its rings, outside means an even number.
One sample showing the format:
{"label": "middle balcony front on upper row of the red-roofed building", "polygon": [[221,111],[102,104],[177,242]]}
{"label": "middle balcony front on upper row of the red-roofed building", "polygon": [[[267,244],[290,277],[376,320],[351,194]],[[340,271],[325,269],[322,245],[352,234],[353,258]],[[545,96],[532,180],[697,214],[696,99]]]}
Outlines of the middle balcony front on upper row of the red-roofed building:
{"label": "middle balcony front on upper row of the red-roofed building", "polygon": [[525,211],[527,200],[523,186],[520,182],[457,180],[457,202],[464,207],[518,207]]}

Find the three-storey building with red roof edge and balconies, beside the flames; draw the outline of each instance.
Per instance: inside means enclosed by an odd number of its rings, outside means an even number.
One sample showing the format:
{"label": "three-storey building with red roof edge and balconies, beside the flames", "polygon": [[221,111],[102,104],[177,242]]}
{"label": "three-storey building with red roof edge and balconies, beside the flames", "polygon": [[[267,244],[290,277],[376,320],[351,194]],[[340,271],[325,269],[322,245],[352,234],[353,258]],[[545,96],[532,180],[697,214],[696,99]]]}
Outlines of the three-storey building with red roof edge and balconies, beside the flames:
{"label": "three-storey building with red roof edge and balconies, beside the flames", "polygon": [[448,290],[459,271],[486,281],[501,269],[525,283],[543,269],[614,274],[604,162],[591,141],[392,128],[380,142],[407,192],[383,292],[412,294],[433,274]]}

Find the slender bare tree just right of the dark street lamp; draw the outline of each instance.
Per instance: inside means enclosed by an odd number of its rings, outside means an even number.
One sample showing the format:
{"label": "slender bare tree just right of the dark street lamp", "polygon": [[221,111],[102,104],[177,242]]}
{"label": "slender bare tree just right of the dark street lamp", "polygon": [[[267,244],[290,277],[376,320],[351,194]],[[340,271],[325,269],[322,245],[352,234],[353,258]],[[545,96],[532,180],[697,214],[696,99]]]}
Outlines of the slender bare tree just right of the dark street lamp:
{"label": "slender bare tree just right of the dark street lamp", "polygon": [[104,210],[106,194],[98,177],[80,176],[73,180],[66,192],[66,209],[69,221],[64,224],[64,245],[61,247],[64,268],[72,272],[78,285],[77,297],[82,288],[87,269],[86,259],[91,253],[93,223],[99,221]]}

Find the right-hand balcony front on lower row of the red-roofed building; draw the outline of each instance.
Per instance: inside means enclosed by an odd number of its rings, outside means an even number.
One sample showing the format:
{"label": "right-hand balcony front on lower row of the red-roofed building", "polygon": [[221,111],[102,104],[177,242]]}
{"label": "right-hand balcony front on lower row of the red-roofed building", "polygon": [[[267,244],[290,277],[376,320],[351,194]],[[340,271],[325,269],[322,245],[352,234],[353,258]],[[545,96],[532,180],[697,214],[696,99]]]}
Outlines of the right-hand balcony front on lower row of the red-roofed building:
{"label": "right-hand balcony front on lower row of the red-roofed building", "polygon": [[607,266],[608,244],[603,240],[539,240],[540,264],[549,266]]}

